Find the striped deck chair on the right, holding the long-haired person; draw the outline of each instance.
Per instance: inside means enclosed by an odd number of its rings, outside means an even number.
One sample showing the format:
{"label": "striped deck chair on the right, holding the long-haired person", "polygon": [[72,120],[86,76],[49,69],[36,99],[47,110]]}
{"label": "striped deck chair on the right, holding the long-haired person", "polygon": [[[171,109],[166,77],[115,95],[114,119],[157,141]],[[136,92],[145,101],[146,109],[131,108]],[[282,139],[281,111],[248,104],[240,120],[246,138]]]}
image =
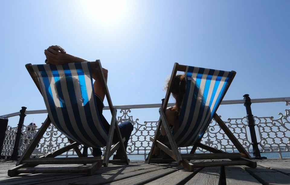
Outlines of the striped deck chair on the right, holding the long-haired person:
{"label": "striped deck chair on the right, holding the long-haired person", "polygon": [[[180,127],[176,133],[172,134],[168,122],[165,117],[165,110],[172,90],[174,79],[177,71],[185,72],[186,77],[186,92],[179,114]],[[256,167],[256,162],[251,160],[248,152],[243,148],[240,142],[235,138],[231,131],[227,128],[221,118],[216,114],[216,111],[234,79],[235,71],[220,71],[205,69],[199,67],[191,67],[174,64],[169,86],[166,92],[165,100],[162,108],[159,109],[159,122],[155,137],[150,137],[153,141],[150,154],[148,156],[149,163],[164,162],[162,159],[152,158],[154,148],[157,146],[174,161],[181,164],[188,170],[192,171],[195,167],[213,167],[213,166],[231,166],[231,165],[247,165]],[[235,145],[239,153],[226,153],[216,148],[201,144],[200,141],[208,128],[212,118],[223,129],[225,134],[230,138],[230,141]],[[161,128],[164,125],[168,141],[161,143],[158,141],[158,136]],[[170,146],[170,147],[168,147]],[[179,147],[192,146],[189,154],[181,154]],[[197,147],[205,149],[211,153],[195,154]],[[227,161],[208,161],[208,162],[189,162],[190,160],[207,160],[207,159],[230,159]],[[166,160],[168,161],[168,160]]]}

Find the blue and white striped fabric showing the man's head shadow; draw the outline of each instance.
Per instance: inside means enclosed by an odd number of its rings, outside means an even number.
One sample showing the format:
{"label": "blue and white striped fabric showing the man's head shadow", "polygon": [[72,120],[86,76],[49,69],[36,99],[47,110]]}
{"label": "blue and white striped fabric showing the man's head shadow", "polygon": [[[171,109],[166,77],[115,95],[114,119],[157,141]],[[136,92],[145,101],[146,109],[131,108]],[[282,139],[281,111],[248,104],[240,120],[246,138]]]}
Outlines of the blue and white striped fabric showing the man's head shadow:
{"label": "blue and white striped fabric showing the man's head shadow", "polygon": [[68,138],[93,148],[106,146],[94,95],[90,62],[32,65],[48,115]]}

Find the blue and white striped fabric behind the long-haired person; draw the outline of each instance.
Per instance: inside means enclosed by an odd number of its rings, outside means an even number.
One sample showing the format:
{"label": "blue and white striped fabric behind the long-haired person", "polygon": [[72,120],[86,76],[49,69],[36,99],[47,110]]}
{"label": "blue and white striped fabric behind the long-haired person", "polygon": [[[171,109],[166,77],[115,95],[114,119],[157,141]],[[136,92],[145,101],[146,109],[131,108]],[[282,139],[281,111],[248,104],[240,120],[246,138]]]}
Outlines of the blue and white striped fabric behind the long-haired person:
{"label": "blue and white striped fabric behind the long-haired person", "polygon": [[233,72],[188,67],[186,92],[174,133],[177,146],[192,146],[208,128]]}

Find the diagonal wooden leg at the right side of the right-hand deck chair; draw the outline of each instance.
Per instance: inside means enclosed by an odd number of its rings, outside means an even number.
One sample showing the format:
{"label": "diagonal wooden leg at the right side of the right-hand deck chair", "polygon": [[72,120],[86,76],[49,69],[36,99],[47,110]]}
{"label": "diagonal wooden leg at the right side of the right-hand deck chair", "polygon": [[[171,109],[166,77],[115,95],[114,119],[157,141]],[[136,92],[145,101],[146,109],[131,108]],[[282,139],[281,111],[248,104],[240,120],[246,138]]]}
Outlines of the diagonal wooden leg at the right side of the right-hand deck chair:
{"label": "diagonal wooden leg at the right side of the right-hand deck chair", "polygon": [[218,125],[223,129],[224,133],[229,137],[230,141],[235,145],[237,150],[245,155],[247,155],[248,159],[252,159],[252,157],[249,155],[249,153],[243,148],[243,146],[240,144],[240,142],[237,140],[237,138],[233,135],[233,133],[230,131],[229,128],[224,124],[223,120],[218,116],[217,113],[214,113],[214,120],[218,123]]}

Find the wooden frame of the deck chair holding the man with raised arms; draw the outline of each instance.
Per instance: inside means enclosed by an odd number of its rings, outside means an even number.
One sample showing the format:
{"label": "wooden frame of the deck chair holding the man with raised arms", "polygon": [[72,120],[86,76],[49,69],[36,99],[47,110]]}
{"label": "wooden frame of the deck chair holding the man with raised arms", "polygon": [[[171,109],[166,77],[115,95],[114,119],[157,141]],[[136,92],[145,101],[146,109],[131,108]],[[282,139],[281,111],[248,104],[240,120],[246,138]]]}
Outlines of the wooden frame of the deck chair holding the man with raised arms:
{"label": "wooden frame of the deck chair holding the man with raised arms", "polygon": [[[37,86],[38,90],[41,93],[40,84],[32,68],[32,64],[31,63],[26,64],[25,67],[28,70],[31,78],[33,79],[35,85]],[[121,137],[120,128],[118,126],[117,119],[116,119],[117,110],[116,108],[113,107],[100,60],[96,60],[95,62],[90,62],[90,67],[91,69],[96,69],[98,71],[102,86],[104,88],[105,95],[108,100],[109,108],[112,114],[111,125],[108,132],[108,141],[107,141],[104,155],[101,157],[83,157],[81,151],[78,148],[80,144],[72,141],[71,139],[68,139],[70,144],[65,147],[55,150],[39,158],[30,158],[32,152],[36,148],[37,144],[39,143],[40,139],[42,138],[42,136],[44,135],[45,131],[47,130],[47,128],[49,127],[51,123],[49,116],[47,116],[47,119],[43,122],[39,131],[37,132],[37,134],[31,141],[31,143],[28,145],[28,148],[21,155],[20,159],[18,160],[16,164],[16,167],[8,170],[8,176],[13,177],[20,173],[76,173],[76,172],[83,172],[83,173],[87,173],[88,175],[92,175],[92,174],[95,174],[96,170],[98,170],[101,166],[107,167],[108,163],[129,164],[127,154],[126,154],[126,148],[124,147],[124,143],[123,143],[125,141],[125,138]],[[116,143],[112,147],[114,130],[117,131],[119,142]],[[109,161],[109,158],[114,154],[115,151],[117,151],[119,147],[122,148],[122,152],[124,154],[125,159]],[[53,158],[71,149],[75,150],[78,157]],[[35,167],[40,164],[84,164],[84,165],[92,164],[92,165],[86,166],[86,167]]]}

